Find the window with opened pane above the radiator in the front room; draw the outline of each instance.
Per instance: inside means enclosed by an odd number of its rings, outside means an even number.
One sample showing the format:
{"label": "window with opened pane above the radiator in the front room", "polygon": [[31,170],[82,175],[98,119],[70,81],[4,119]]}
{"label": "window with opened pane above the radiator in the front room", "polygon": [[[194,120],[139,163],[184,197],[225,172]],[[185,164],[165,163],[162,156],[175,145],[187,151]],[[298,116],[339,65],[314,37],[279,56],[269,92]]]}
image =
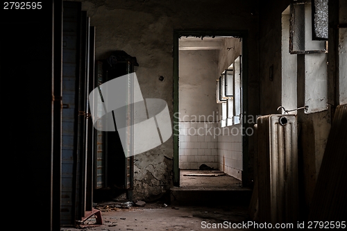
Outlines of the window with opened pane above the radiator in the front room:
{"label": "window with opened pane above the radiator in the front room", "polygon": [[[313,5],[312,5],[313,4]],[[323,4],[323,5],[322,5]],[[325,22],[325,15],[328,14],[328,7],[325,1],[294,1],[290,6],[289,18],[289,53],[298,55],[297,58],[289,58],[283,55],[282,48],[282,106],[289,107],[295,105],[294,102],[285,100],[285,97],[292,96],[293,91],[300,86],[296,96],[297,107],[305,108],[305,113],[320,112],[328,107],[328,41],[325,41],[325,31],[328,30],[328,21]],[[321,12],[325,10],[326,12]],[[326,16],[327,17],[327,16]],[[282,20],[285,19],[282,14]],[[312,21],[313,20],[313,21]],[[282,26],[287,24],[282,21]],[[326,27],[326,28],[325,28]],[[285,43],[286,35],[282,34],[282,43]],[[300,56],[299,56],[300,55]],[[284,62],[285,61],[285,62]],[[296,64],[294,64],[296,62]],[[289,67],[291,65],[291,67]],[[296,69],[297,77],[291,76],[290,69]],[[287,72],[284,72],[287,71]],[[285,87],[286,81],[295,80],[297,83],[289,83]],[[287,105],[283,105],[287,103]]]}

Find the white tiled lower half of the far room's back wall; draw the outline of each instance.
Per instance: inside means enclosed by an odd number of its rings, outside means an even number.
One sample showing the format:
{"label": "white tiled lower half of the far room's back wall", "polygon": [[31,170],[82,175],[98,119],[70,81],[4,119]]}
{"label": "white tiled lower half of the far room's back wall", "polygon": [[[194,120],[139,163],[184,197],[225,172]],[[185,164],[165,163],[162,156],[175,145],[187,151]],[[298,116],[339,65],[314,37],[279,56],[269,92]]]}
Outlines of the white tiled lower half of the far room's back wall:
{"label": "white tiled lower half of the far room's back wall", "polygon": [[198,169],[206,164],[218,169],[218,139],[214,134],[217,123],[179,122],[179,167]]}

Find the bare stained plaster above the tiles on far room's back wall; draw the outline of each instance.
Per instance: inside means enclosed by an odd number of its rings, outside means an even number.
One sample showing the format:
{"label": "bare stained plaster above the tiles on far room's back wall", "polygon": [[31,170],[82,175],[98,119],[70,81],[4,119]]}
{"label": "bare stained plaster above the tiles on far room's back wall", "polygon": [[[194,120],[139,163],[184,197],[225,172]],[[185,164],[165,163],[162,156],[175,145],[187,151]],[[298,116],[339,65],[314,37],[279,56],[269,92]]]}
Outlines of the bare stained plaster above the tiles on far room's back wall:
{"label": "bare stained plaster above the tiles on far room's back wall", "polygon": [[218,53],[218,50],[180,51],[180,121],[216,121],[212,114],[217,110],[215,85]]}

